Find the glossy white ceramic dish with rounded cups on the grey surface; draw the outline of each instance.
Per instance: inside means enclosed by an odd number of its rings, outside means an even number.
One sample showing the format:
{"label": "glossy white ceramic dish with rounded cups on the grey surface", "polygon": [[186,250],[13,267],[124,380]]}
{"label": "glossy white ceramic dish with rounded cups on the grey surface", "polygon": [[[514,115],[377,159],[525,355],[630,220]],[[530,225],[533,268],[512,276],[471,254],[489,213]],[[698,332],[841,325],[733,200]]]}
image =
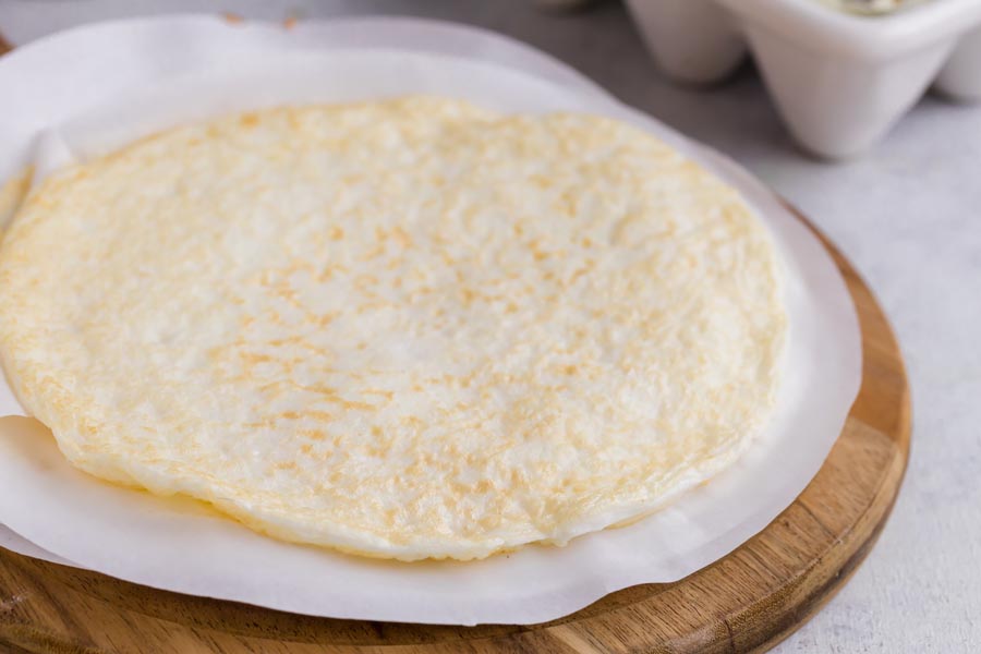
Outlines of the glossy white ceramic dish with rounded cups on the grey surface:
{"label": "glossy white ceramic dish with rounded cups on the grey surface", "polygon": [[723,80],[751,51],[790,132],[827,158],[859,155],[931,86],[981,100],[981,2],[928,0],[881,16],[815,0],[628,0],[673,78]]}

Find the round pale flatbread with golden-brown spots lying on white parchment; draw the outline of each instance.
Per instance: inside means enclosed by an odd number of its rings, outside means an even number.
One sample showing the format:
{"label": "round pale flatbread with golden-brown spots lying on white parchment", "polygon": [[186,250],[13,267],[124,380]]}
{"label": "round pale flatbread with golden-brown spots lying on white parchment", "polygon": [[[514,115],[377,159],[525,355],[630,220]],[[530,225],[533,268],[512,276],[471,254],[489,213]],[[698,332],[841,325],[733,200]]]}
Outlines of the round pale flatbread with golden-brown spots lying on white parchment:
{"label": "round pale flatbread with golden-brown spots lying on white parchment", "polygon": [[45,181],[0,249],[0,352],[94,475],[471,559],[730,464],[773,410],[779,278],[734,189],[623,123],[281,108]]}

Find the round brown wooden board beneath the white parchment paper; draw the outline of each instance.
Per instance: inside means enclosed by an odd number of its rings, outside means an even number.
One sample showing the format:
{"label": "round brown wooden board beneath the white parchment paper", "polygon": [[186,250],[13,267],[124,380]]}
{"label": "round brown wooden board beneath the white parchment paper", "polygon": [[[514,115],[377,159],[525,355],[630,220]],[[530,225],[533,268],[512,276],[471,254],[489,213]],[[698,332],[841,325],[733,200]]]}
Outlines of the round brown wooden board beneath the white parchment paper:
{"label": "round brown wooden board beneath the white parchment paper", "polygon": [[909,390],[896,340],[867,286],[825,244],[861,322],[864,365],[858,399],[824,467],[800,497],[741,547],[677,583],[627,589],[536,626],[417,626],[311,618],[157,591],[0,549],[0,651],[767,650],[816,611],[865,557],[892,509],[909,452]]}

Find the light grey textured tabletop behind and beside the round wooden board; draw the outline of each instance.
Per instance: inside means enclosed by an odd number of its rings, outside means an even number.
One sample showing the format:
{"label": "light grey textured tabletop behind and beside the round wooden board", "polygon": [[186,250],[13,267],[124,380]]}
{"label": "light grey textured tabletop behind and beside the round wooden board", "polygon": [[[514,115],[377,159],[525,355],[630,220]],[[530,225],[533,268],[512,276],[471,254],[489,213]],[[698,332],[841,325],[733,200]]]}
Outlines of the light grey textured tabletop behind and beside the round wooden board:
{"label": "light grey textured tabletop behind and beside the round wooden board", "polygon": [[[621,99],[723,150],[809,215],[892,318],[913,391],[913,452],[899,501],[852,581],[779,652],[972,652],[981,646],[981,107],[924,99],[871,156],[801,156],[748,66],[712,90],[677,88],[623,9],[552,15],[529,0],[0,0],[21,43],[81,19],[231,10],[281,19],[391,13],[525,40]],[[69,4],[71,7],[69,7]],[[29,14],[29,15],[28,15]]]}

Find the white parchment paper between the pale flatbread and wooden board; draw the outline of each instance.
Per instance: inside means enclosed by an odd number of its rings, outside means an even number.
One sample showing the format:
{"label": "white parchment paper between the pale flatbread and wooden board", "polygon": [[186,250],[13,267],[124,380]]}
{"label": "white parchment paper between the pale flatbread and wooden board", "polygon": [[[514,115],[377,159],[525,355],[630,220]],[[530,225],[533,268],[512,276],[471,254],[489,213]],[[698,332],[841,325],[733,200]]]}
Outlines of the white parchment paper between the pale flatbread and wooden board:
{"label": "white parchment paper between the pale flatbread and wooden board", "polygon": [[[820,243],[731,162],[608,96],[496,64],[391,49],[327,52],[305,31],[296,31],[304,35],[298,45],[292,33],[278,27],[243,28],[208,19],[128,21],[120,39],[107,38],[110,28],[73,31],[46,47],[15,52],[22,57],[13,64],[10,58],[0,61],[0,87],[9,87],[4,76],[16,73],[33,98],[17,104],[19,120],[4,117],[0,153],[20,158],[0,160],[0,171],[10,174],[36,156],[40,134],[41,162],[50,167],[186,120],[286,101],[432,93],[502,111],[609,114],[714,169],[743,192],[773,231],[787,268],[785,383],[771,424],[736,465],[664,510],[565,548],[528,547],[465,564],[376,561],[267,538],[195,502],[152,497],[77,472],[36,421],[7,417],[0,421],[0,522],[31,542],[130,581],[295,613],[530,623],[628,585],[680,579],[712,562],[763,529],[821,467],[860,382],[855,311]],[[119,59],[111,43],[142,44],[129,56],[142,60],[143,69],[123,65],[124,80],[102,70],[83,98],[48,93],[57,84],[40,63],[57,60],[59,38],[73,40],[78,51],[80,41],[88,40],[86,31],[96,34],[84,49],[107,61]],[[183,68],[174,59],[183,60]],[[165,72],[157,75],[158,69]],[[52,109],[59,99],[70,106]],[[11,407],[9,396],[5,405]]]}

